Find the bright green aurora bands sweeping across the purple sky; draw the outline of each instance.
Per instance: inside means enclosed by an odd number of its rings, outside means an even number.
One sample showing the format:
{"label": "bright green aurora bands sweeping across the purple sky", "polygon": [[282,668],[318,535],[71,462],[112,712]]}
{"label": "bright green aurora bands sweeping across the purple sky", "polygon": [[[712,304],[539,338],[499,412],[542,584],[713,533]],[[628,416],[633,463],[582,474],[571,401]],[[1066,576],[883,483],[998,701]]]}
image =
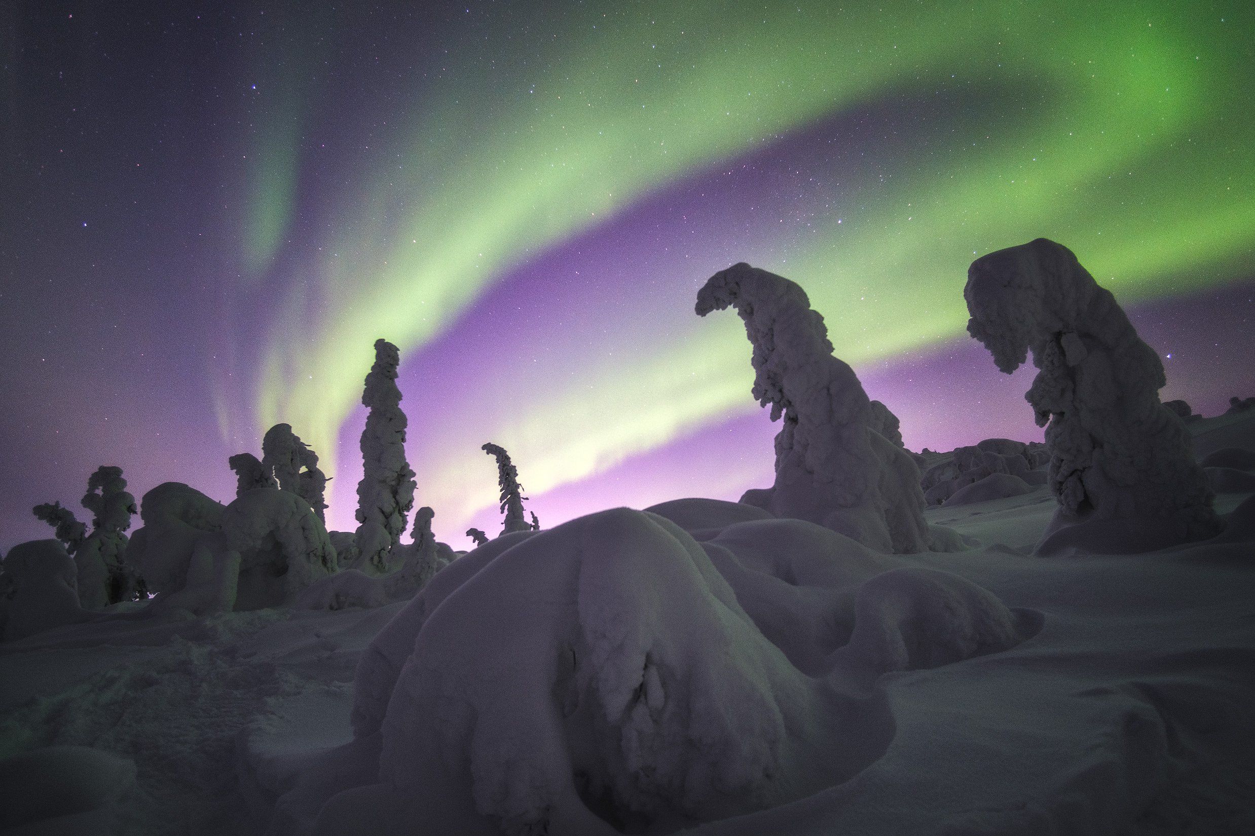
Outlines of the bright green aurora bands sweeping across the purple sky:
{"label": "bright green aurora bands sweeping across the purple sky", "polygon": [[[1039,235],[1124,300],[1251,262],[1244,3],[659,3],[572,13],[526,43],[511,25],[513,40],[502,24],[476,35],[487,46],[448,45],[444,72],[405,107],[419,115],[380,138],[395,164],[346,191],[338,232],[269,336],[257,424],[291,423],[329,468],[376,336],[412,353],[511,269],[679,178],[868,104],[979,97],[926,143],[900,138],[877,169],[843,176],[840,200],[858,211],[821,217],[787,264],[754,238],[729,259],[802,284],[856,365],[963,334],[966,265]],[[281,246],[301,164],[287,131],[269,136],[248,208],[255,266]],[[705,275],[653,279],[692,304]],[[670,338],[612,379],[579,369],[492,429],[532,492],[754,408],[735,318],[694,318]],[[483,432],[420,442],[433,448],[422,502],[452,516],[493,502],[491,483],[456,478],[482,466]]]}

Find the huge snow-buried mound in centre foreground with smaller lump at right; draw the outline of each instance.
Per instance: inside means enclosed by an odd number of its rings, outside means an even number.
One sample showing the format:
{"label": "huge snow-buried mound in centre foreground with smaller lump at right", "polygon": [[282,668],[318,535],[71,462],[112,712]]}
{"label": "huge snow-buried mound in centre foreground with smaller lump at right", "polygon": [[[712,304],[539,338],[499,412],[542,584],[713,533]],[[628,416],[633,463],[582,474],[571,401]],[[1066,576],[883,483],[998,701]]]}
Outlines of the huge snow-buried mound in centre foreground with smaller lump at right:
{"label": "huge snow-buried mound in centre foreground with smaller lump at right", "polygon": [[[673,507],[707,532],[729,516]],[[617,508],[503,535],[363,655],[350,747],[378,757],[315,832],[661,833],[774,807],[884,751],[892,724],[856,695],[878,675],[1029,630],[970,581],[798,520],[699,544]]]}

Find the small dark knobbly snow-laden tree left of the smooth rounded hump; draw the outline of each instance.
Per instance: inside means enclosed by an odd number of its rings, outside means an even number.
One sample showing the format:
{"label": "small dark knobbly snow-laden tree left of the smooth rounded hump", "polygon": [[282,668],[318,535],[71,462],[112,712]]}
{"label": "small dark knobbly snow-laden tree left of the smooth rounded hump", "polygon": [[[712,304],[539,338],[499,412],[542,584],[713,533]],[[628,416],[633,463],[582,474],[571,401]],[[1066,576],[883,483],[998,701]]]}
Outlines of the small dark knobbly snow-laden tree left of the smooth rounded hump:
{"label": "small dark knobbly snow-laden tree left of the smooth rounded hump", "polygon": [[120,467],[100,466],[87,481],[83,507],[92,512],[92,533],[74,552],[78,565],[79,601],[99,609],[131,598],[134,572],[123,562],[136,497],[127,491]]}

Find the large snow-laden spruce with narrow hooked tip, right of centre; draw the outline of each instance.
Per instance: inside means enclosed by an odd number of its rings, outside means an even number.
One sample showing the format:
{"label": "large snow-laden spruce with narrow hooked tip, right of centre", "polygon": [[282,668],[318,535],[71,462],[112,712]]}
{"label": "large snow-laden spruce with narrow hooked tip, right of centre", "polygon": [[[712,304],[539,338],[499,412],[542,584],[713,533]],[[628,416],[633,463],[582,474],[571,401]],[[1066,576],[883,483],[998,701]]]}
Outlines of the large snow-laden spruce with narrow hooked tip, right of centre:
{"label": "large snow-laden spruce with narrow hooked tip, right of centre", "polygon": [[[735,308],[753,344],[753,394],[772,421],[776,483],[742,502],[808,520],[881,551],[929,547],[919,468],[885,438],[885,415],[832,355],[823,316],[788,279],[737,264],[698,292],[697,313]],[[889,410],[885,409],[887,413]]]}

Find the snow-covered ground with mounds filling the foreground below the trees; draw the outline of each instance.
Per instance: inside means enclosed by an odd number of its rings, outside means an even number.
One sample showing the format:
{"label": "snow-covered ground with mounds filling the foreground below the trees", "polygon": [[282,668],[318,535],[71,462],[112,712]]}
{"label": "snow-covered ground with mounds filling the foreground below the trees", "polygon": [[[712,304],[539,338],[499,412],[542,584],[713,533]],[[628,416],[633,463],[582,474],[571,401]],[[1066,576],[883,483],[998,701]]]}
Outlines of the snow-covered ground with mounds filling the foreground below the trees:
{"label": "snow-covered ground with mounds filling the foreground below the trees", "polygon": [[[1255,410],[1191,432],[1255,449]],[[1037,557],[1044,486],[917,555],[681,501],[378,609],[122,605],[0,645],[0,830],[1252,833],[1252,505]]]}

